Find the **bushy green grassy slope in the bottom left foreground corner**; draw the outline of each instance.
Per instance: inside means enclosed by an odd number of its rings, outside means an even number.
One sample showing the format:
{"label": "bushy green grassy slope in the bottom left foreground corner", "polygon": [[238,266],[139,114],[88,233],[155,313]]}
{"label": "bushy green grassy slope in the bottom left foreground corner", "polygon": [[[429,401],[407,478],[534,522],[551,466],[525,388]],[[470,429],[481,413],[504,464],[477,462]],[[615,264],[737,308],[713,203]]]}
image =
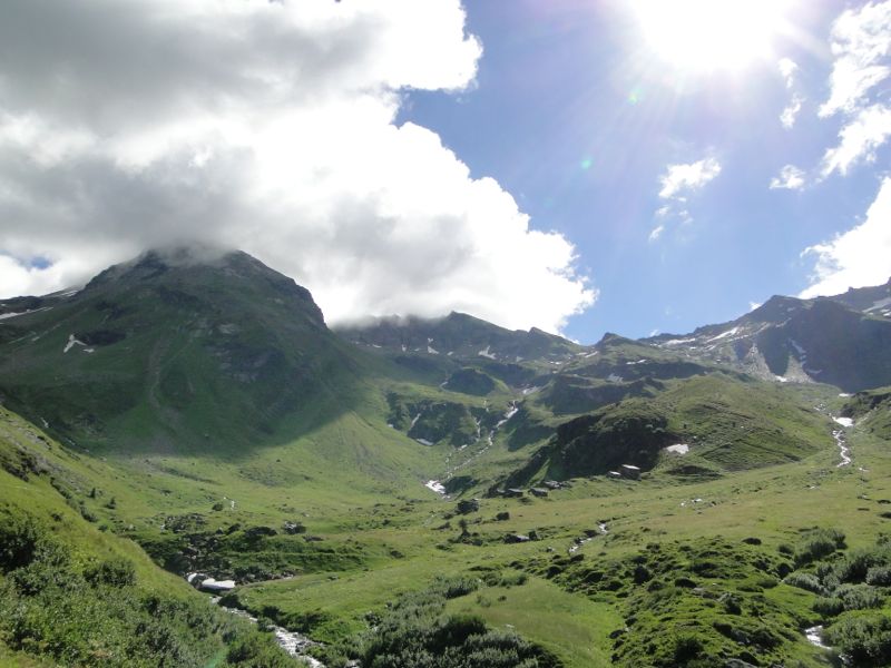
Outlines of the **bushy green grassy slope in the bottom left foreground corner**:
{"label": "bushy green grassy slope in the bottom left foreground corner", "polygon": [[85,519],[58,443],[0,409],[4,666],[296,665],[244,621]]}

